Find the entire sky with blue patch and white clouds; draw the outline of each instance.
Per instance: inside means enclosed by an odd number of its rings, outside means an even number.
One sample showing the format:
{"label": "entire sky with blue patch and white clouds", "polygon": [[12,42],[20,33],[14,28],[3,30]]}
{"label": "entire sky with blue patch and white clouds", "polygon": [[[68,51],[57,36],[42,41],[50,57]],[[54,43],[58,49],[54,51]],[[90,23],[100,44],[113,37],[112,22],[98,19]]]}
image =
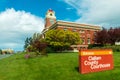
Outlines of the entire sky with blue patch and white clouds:
{"label": "entire sky with blue patch and white clouds", "polygon": [[48,9],[57,20],[100,25],[120,25],[119,0],[0,0],[0,49],[23,50],[26,37],[44,28]]}

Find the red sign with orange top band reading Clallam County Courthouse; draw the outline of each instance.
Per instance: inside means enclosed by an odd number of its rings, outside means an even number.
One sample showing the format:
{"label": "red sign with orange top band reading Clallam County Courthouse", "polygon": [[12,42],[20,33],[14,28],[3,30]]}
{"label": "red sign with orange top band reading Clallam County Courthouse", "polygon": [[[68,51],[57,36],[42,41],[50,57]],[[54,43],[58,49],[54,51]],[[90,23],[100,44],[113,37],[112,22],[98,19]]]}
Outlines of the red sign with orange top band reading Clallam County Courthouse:
{"label": "red sign with orange top band reading Clallam County Courthouse", "polygon": [[81,74],[113,69],[111,49],[80,50],[79,72]]}

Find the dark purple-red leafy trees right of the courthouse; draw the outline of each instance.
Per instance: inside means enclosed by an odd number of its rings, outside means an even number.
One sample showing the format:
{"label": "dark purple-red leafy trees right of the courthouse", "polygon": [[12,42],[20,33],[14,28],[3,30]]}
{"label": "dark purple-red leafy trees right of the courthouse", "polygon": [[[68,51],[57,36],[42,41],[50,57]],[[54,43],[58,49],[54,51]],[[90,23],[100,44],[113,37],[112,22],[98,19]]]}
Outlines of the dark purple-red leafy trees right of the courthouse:
{"label": "dark purple-red leafy trees right of the courthouse", "polygon": [[95,42],[99,44],[111,44],[114,45],[115,42],[120,41],[120,28],[110,28],[105,29],[97,32],[97,35],[95,36]]}

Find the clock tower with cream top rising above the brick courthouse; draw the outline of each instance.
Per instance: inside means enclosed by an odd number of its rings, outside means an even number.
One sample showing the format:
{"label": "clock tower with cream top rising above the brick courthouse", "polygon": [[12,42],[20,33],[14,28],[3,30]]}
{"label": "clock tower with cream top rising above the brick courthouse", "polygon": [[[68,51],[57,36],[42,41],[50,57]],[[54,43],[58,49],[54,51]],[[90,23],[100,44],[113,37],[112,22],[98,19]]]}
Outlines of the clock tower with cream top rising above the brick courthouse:
{"label": "clock tower with cream top rising above the brick courthouse", "polygon": [[56,22],[55,12],[52,9],[49,9],[45,16],[45,29],[48,29],[55,22]]}

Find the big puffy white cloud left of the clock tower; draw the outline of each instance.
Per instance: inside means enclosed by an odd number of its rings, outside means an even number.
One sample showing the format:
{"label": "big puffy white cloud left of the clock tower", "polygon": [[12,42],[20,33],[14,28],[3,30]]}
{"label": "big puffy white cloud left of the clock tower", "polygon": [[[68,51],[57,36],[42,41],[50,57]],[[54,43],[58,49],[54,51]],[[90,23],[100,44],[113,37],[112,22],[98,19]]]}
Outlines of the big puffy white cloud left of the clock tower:
{"label": "big puffy white cloud left of the clock tower", "polygon": [[23,49],[26,37],[41,32],[44,20],[25,11],[13,8],[0,13],[0,48]]}

